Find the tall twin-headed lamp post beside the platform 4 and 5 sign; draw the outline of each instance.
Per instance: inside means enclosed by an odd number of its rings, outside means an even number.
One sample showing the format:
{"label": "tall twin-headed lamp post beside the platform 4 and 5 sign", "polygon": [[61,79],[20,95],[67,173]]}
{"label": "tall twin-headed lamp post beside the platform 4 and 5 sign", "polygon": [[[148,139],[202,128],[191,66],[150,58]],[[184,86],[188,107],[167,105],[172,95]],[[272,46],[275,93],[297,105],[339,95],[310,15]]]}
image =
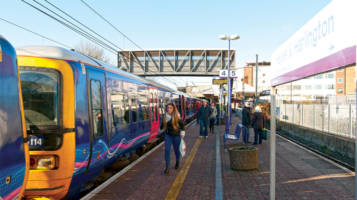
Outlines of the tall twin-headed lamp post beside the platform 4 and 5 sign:
{"label": "tall twin-headed lamp post beside the platform 4 and 5 sign", "polygon": [[239,35],[231,35],[231,36],[227,36],[227,35],[220,35],[218,37],[221,40],[228,40],[228,77],[227,77],[227,114],[226,114],[226,133],[229,132],[229,122],[231,119],[231,78],[230,78],[230,71],[229,71],[229,66],[230,66],[230,60],[231,60],[231,53],[230,53],[230,48],[231,48],[231,40],[238,40],[240,39]]}

